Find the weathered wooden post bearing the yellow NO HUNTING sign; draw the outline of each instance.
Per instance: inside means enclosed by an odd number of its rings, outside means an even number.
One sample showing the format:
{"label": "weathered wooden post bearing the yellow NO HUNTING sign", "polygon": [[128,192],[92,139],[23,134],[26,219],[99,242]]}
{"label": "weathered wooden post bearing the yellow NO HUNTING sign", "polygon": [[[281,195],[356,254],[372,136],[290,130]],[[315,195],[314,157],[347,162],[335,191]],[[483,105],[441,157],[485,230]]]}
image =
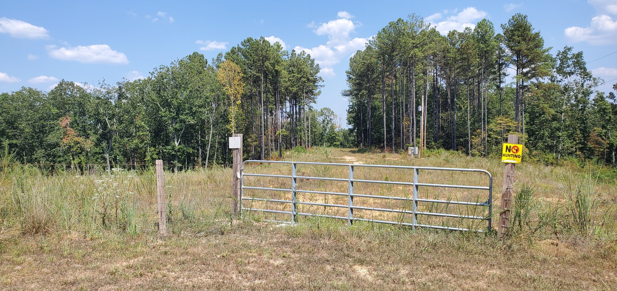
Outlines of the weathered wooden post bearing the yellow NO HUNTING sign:
{"label": "weathered wooden post bearing the yellow NO HUNTING sign", "polygon": [[505,232],[510,227],[515,164],[521,163],[522,155],[523,146],[518,145],[518,135],[508,135],[508,143],[504,143],[502,147],[502,162],[507,164],[503,170],[502,211],[499,213],[499,226],[497,228],[497,237],[501,240],[505,238]]}

